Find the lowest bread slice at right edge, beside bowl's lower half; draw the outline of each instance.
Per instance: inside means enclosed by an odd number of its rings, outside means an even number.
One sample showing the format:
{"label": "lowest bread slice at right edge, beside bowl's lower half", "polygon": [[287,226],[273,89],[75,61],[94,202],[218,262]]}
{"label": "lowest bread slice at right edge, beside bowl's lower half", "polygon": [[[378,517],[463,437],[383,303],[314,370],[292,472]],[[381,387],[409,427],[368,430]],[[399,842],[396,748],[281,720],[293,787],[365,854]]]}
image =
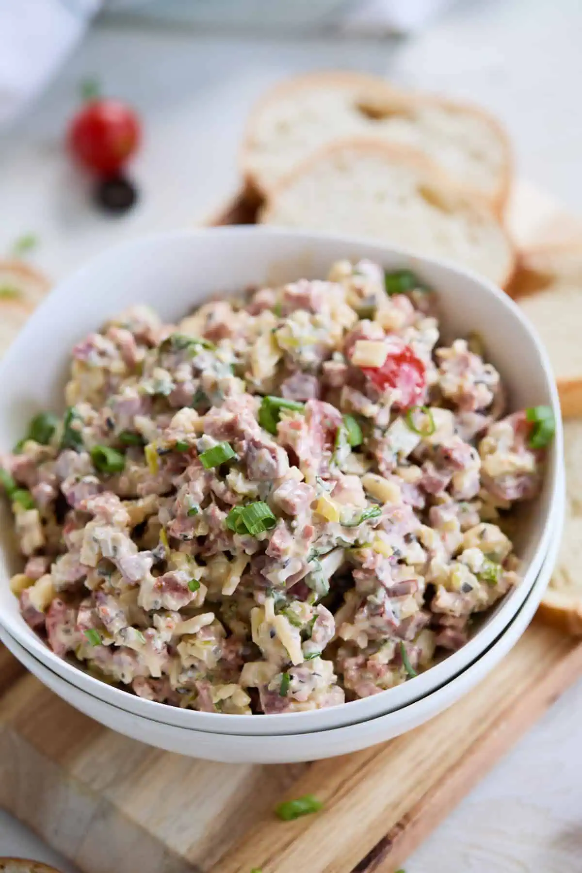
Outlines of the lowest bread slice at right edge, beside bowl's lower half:
{"label": "lowest bread slice at right edge, beside bowl's lower half", "polygon": [[564,427],[566,519],[558,563],[539,611],[571,634],[582,635],[582,422]]}

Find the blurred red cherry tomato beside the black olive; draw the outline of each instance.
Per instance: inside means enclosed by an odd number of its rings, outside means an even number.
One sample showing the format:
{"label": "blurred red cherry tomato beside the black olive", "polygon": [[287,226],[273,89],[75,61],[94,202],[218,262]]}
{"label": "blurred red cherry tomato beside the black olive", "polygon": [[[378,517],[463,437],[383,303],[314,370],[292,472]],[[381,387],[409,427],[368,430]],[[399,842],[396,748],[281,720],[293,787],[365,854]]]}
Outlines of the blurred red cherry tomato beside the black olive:
{"label": "blurred red cherry tomato beside the black olive", "polygon": [[72,155],[87,169],[114,175],[140,145],[140,122],[119,100],[91,100],[68,131]]}

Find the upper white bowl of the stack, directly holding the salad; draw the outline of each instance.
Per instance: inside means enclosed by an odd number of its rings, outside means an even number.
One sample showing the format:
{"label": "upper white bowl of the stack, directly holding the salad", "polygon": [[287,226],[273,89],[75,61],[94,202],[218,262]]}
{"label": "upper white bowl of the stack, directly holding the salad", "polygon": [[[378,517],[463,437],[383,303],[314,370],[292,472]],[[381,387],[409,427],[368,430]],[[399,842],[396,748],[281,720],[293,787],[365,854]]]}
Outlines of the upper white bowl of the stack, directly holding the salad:
{"label": "upper white bowl of the stack, directly holding the salad", "polygon": [[517,551],[524,561],[523,581],[497,604],[461,650],[394,689],[330,709],[260,718],[196,712],[100,683],[48,649],[24,622],[17,598],[10,593],[8,580],[18,559],[4,515],[3,524],[0,518],[0,622],[24,649],[79,689],[128,712],[184,728],[245,735],[323,730],[374,718],[423,698],[486,650],[523,604],[548,550],[549,521],[557,500],[563,463],[558,395],[544,348],[513,301],[484,279],[452,265],[349,237],[262,227],[180,230],[122,244],[58,285],[10,347],[0,365],[0,447],[13,445],[38,409],[62,407],[72,346],[112,313],[145,302],[164,317],[176,319],[216,292],[325,276],[339,258],[371,258],[388,269],[413,269],[438,292],[448,339],[478,329],[509,390],[512,409],[538,403],[553,408],[556,437],[548,453],[544,486],[537,500],[522,507]]}

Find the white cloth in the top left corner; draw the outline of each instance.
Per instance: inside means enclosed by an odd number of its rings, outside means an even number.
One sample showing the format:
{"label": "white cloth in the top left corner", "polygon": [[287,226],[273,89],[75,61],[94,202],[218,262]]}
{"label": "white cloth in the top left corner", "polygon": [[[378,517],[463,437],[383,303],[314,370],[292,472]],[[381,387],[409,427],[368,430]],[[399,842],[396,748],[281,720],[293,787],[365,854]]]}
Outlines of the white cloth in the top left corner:
{"label": "white cloth in the top left corner", "polygon": [[101,0],[0,0],[0,125],[46,86]]}

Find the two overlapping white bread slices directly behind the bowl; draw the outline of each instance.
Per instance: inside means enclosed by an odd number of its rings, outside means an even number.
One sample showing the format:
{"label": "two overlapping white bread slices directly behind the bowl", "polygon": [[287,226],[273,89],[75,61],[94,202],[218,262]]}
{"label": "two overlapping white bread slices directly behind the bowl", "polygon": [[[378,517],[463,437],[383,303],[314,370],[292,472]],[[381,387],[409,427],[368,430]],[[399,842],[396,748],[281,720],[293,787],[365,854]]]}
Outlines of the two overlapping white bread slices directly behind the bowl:
{"label": "two overlapping white bread slices directly behind the bowl", "polygon": [[352,72],[304,76],[257,107],[242,162],[262,223],[375,238],[510,281],[510,148],[478,109]]}

